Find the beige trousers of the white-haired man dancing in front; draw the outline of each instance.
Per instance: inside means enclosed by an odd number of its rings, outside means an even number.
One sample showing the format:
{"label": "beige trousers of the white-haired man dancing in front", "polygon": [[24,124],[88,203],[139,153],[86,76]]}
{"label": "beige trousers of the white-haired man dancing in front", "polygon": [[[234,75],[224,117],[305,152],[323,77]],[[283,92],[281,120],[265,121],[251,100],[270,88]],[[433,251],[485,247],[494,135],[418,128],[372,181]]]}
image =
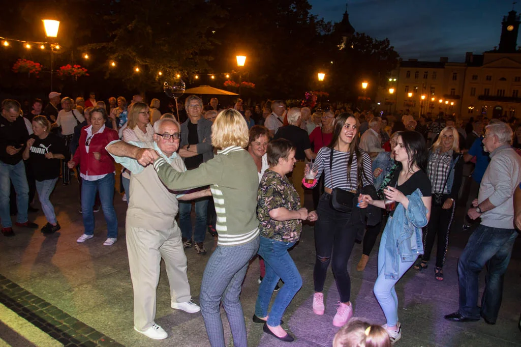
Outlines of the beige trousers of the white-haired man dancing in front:
{"label": "beige trousers of the white-haired man dancing in front", "polygon": [[126,226],[130,276],[134,289],[134,327],[144,331],[154,324],[156,290],[161,258],[165,260],[171,301],[190,301],[187,257],[176,225],[168,230],[148,230]]}

